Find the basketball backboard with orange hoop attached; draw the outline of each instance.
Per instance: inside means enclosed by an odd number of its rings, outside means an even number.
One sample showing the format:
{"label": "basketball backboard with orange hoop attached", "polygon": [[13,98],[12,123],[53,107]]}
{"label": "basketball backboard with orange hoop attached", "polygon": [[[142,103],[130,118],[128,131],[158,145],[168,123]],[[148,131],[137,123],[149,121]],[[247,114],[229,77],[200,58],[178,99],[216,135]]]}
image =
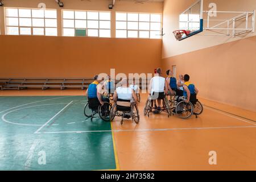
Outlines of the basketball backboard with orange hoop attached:
{"label": "basketball backboard with orange hoop attached", "polygon": [[196,1],[179,16],[179,31],[174,31],[177,40],[184,40],[203,31],[203,0]]}

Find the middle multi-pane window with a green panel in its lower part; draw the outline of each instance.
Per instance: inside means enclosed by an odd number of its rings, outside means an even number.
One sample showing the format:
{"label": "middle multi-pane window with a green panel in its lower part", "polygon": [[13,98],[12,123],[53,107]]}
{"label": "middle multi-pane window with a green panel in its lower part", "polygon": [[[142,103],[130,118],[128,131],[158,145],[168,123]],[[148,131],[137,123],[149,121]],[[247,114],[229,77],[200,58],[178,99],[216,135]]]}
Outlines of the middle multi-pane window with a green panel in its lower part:
{"label": "middle multi-pane window with a green panel in its lower part", "polygon": [[63,10],[63,36],[98,36],[110,38],[109,11]]}

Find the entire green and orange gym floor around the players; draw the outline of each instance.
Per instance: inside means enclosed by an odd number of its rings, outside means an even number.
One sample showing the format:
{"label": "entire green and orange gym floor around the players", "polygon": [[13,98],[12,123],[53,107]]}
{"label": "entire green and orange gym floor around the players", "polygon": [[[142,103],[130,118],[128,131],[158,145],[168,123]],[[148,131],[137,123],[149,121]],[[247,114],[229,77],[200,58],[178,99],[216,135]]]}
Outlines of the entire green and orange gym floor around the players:
{"label": "entire green and orange gym floor around the players", "polygon": [[[82,91],[43,94],[26,90],[1,94],[1,169],[256,169],[253,112],[202,99],[204,114],[198,118],[141,114],[139,125],[126,119],[121,126],[118,118],[86,119]],[[140,113],[146,97],[142,95]],[[40,151],[46,153],[45,166],[38,164]],[[216,166],[209,165],[210,151],[217,152]]]}

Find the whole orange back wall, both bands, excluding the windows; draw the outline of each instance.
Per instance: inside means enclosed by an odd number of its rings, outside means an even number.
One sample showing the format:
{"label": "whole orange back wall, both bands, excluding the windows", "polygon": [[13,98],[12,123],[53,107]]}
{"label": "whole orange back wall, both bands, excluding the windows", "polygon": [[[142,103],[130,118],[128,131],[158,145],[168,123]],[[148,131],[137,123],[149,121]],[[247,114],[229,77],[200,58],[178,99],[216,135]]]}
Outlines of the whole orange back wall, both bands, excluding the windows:
{"label": "whole orange back wall, both bands, excluding the windows", "polygon": [[152,73],[160,66],[161,39],[115,39],[115,11],[162,13],[163,3],[65,0],[69,10],[112,11],[112,38],[61,36],[61,8],[54,0],[8,0],[5,7],[36,8],[39,3],[57,9],[58,37],[7,36],[0,7],[0,77],[92,77],[99,72]]}

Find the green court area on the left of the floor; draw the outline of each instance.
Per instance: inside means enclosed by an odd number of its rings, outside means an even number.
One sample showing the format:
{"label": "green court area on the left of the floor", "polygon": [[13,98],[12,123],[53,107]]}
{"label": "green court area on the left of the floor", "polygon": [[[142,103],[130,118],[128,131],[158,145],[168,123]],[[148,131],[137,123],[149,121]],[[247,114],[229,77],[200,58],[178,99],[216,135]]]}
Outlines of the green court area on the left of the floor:
{"label": "green court area on the left of the floor", "polygon": [[0,97],[0,170],[116,169],[110,122],[85,96]]}

